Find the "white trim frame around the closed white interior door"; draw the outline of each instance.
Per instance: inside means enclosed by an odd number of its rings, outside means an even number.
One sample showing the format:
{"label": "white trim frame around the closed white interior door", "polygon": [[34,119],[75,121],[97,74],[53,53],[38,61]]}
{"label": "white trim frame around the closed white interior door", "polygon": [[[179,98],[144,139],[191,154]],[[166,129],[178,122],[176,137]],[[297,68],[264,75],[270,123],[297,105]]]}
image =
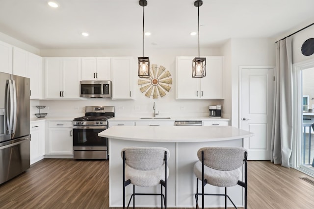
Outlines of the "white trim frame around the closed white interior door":
{"label": "white trim frame around the closed white interior door", "polygon": [[[244,69],[254,69],[254,70],[259,70],[259,69],[273,69],[274,72],[274,76],[275,76],[275,67],[274,66],[239,66],[239,97],[238,97],[238,102],[239,102],[239,115],[238,115],[238,124],[239,124],[239,128],[242,128],[242,123],[241,123],[241,119],[242,119],[242,71]],[[274,111],[274,110],[273,110]],[[243,147],[244,147],[244,140],[243,139]],[[270,144],[270,141],[269,141]],[[269,153],[270,156],[270,153]]]}

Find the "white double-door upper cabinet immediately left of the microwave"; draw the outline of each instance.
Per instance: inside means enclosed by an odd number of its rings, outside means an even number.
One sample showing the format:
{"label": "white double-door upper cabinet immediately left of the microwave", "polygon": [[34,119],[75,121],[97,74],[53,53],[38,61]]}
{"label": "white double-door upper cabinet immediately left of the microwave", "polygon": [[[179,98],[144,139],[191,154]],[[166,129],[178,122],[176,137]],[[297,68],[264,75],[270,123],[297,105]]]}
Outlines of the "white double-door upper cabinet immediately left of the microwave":
{"label": "white double-door upper cabinet immediately left of the microwave", "polygon": [[46,99],[79,99],[80,58],[45,59]]}

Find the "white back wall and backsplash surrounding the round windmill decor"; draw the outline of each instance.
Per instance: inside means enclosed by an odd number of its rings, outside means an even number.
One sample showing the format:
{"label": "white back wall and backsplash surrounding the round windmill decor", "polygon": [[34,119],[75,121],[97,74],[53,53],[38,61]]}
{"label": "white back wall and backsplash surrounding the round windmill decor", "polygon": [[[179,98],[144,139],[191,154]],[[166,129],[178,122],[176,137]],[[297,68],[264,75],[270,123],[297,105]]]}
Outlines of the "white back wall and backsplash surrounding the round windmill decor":
{"label": "white back wall and backsplash surrounding the round windmill decor", "polygon": [[[201,49],[201,56],[221,56],[220,48]],[[50,49],[41,50],[41,56],[133,56],[135,59],[134,73],[137,73],[136,60],[142,55],[141,50],[136,49]],[[153,116],[153,103],[156,102],[159,116],[209,116],[209,105],[222,104],[224,100],[176,100],[176,57],[197,56],[198,49],[149,49],[145,55],[150,57],[151,64],[162,65],[169,70],[173,84],[169,93],[164,97],[153,99],[146,97],[134,80],[133,90],[135,100],[111,100],[111,99],[86,99],[86,100],[40,100],[40,105],[46,105],[42,110],[48,116],[83,116],[85,106],[113,105],[116,116]],[[191,64],[192,65],[192,64]],[[209,74],[207,76],[210,76]],[[137,78],[136,78],[137,79]],[[186,85],[189,85],[188,83]],[[123,88],[123,87],[121,87]],[[229,99],[230,100],[230,99]],[[34,106],[35,101],[31,101]],[[135,110],[135,106],[139,110]],[[49,107],[49,110],[48,110]],[[230,114],[230,110],[226,110]],[[37,112],[31,112],[35,114]]]}

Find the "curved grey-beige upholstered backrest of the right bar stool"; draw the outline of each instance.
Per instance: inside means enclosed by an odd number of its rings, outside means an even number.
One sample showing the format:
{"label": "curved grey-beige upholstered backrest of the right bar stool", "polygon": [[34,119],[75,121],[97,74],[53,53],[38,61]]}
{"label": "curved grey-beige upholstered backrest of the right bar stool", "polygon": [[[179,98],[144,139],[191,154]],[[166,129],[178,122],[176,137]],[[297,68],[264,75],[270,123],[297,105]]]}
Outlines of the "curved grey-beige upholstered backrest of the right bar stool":
{"label": "curved grey-beige upholstered backrest of the right bar stool", "polygon": [[244,163],[245,148],[242,147],[203,147],[197,151],[197,157],[204,164],[216,170],[235,170]]}

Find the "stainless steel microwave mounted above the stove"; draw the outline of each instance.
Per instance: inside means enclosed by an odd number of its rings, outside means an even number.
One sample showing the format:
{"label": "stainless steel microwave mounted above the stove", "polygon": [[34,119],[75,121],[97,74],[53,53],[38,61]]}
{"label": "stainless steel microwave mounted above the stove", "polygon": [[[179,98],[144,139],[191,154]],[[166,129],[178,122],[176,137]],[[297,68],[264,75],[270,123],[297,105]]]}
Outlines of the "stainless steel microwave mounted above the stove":
{"label": "stainless steel microwave mounted above the stove", "polygon": [[111,98],[111,81],[89,80],[80,81],[80,97],[85,98]]}

